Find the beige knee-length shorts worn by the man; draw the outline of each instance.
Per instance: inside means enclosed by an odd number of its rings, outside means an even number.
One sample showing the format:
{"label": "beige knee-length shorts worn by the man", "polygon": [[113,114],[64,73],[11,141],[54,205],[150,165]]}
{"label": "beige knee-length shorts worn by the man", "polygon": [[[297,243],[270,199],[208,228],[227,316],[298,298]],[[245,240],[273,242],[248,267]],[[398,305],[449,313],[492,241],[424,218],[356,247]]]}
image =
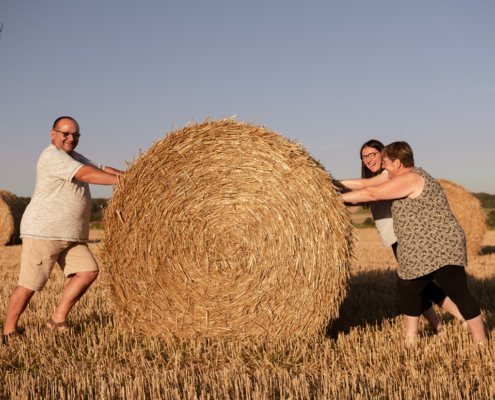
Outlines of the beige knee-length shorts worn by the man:
{"label": "beige knee-length shorts worn by the man", "polygon": [[23,238],[18,285],[40,292],[56,262],[68,278],[77,272],[98,271],[86,243]]}

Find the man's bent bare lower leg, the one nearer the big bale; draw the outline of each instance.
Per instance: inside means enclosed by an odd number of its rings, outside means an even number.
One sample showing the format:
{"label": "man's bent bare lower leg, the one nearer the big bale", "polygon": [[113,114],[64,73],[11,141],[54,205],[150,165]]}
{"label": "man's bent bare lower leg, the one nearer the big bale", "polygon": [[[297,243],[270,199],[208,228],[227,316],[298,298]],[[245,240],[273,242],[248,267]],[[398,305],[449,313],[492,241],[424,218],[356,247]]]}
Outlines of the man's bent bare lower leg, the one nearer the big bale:
{"label": "man's bent bare lower leg, the one nearer the big bale", "polygon": [[[74,304],[86,293],[86,290],[97,277],[98,271],[77,272],[65,287],[62,293],[62,300],[60,300],[57,309],[53,313],[52,320],[64,322]],[[50,323],[47,323],[47,327],[51,328]]]}

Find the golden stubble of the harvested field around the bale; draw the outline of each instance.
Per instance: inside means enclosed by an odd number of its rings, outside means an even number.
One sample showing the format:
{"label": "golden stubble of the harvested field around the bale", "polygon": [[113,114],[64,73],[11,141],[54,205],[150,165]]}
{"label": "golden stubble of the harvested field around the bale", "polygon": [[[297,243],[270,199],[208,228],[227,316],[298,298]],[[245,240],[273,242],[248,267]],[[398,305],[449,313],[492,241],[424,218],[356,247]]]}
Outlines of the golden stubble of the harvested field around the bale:
{"label": "golden stubble of the harvested field around the bale", "polygon": [[[97,241],[101,233],[91,234]],[[437,340],[422,320],[418,347],[400,350],[392,251],[374,229],[358,229],[357,236],[348,295],[326,338],[137,338],[109,311],[99,281],[71,314],[74,333],[53,335],[43,325],[66,283],[55,270],[21,319],[25,343],[0,347],[0,398],[493,399],[495,232],[467,269],[488,333],[482,352],[448,315],[446,339]],[[20,253],[21,246],[0,247],[2,317]]]}

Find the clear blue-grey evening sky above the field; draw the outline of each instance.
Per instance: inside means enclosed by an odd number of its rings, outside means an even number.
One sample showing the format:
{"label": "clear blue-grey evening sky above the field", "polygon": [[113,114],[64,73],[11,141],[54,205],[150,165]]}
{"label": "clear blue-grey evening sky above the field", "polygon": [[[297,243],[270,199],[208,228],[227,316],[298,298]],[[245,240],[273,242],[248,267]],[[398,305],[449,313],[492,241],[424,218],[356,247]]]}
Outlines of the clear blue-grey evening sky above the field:
{"label": "clear blue-grey evening sky above the field", "polygon": [[0,189],[19,196],[61,115],[115,168],[173,123],[237,115],[334,177],[359,177],[366,140],[405,140],[434,177],[495,193],[493,0],[2,0],[0,22]]}

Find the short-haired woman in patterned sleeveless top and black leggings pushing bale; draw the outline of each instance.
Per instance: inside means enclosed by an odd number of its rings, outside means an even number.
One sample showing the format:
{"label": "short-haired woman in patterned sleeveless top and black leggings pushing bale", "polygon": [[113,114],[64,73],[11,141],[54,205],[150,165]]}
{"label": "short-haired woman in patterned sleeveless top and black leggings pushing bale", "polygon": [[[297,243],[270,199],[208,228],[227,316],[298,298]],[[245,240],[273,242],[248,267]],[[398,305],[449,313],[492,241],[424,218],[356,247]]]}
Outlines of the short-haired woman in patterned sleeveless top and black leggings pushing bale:
{"label": "short-haired woman in patterned sleeveless top and black leggings pushing bale", "polygon": [[442,187],[414,166],[413,152],[406,142],[386,146],[381,156],[388,180],[340,197],[353,204],[394,200],[397,285],[405,314],[406,340],[414,341],[417,336],[421,293],[435,279],[466,319],[474,341],[483,343],[483,318],[466,283],[466,238]]}

